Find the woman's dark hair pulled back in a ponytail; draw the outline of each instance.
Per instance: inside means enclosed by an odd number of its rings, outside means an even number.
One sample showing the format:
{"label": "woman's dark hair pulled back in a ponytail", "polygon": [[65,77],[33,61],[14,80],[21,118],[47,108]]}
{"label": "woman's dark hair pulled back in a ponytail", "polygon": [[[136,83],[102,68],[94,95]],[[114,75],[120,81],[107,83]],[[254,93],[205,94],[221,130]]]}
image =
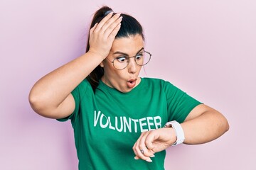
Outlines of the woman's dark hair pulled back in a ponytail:
{"label": "woman's dark hair pulled back in a ponytail", "polygon": [[[98,11],[95,12],[95,15],[92,18],[90,29],[93,26],[95,26],[96,23],[99,23],[100,21],[102,21],[102,19],[106,16],[107,11],[113,11],[113,10],[108,6],[102,6],[102,8],[100,8]],[[144,40],[143,29],[140,23],[135,18],[127,14],[122,13],[121,16],[122,16],[121,28],[119,29],[115,38],[129,38],[129,36],[134,36],[139,34],[139,35],[142,35],[142,39]],[[89,38],[90,38],[90,34],[88,34],[86,52],[88,52],[90,49]],[[86,79],[87,81],[90,82],[92,89],[94,91],[99,85],[99,80],[102,78],[103,74],[104,74],[104,69],[100,67],[100,65],[98,65],[89,74],[89,76],[87,76]]]}

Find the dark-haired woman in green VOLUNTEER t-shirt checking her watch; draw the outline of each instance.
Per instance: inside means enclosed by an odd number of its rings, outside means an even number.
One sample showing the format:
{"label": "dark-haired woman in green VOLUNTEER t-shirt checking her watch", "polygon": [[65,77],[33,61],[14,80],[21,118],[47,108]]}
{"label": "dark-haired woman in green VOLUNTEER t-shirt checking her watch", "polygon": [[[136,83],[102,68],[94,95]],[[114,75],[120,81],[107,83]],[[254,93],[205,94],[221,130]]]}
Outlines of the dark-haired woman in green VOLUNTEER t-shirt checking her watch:
{"label": "dark-haired woman in green VOLUNTEER t-shirt checking her watch", "polygon": [[221,113],[168,81],[139,77],[150,58],[139,22],[103,6],[85,54],[31,89],[36,113],[71,120],[79,169],[164,169],[167,147],[210,142],[228,130]]}

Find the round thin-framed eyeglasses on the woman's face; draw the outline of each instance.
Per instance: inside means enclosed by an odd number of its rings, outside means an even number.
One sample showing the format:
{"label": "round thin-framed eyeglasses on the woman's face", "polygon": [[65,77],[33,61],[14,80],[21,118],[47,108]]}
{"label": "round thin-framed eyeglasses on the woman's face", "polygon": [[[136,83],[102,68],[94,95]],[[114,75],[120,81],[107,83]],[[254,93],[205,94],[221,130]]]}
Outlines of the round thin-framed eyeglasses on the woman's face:
{"label": "round thin-framed eyeglasses on the woman's face", "polygon": [[108,58],[106,59],[112,62],[115,69],[121,70],[121,69],[125,69],[129,65],[130,58],[134,58],[134,61],[139,66],[144,66],[147,63],[149,63],[149,60],[151,59],[151,54],[150,52],[142,51],[142,52],[139,52],[134,57],[128,57],[123,55],[123,56],[114,58],[113,61],[109,60]]}

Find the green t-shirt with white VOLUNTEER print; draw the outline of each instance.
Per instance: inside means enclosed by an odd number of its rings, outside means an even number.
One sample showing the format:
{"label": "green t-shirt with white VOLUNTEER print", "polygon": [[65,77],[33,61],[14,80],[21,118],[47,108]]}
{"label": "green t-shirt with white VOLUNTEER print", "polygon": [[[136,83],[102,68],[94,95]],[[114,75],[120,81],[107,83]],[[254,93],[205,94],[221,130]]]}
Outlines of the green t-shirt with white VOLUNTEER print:
{"label": "green t-shirt with white VOLUNTEER print", "polygon": [[141,132],[182,123],[200,104],[168,81],[142,78],[132,91],[122,93],[100,81],[95,93],[85,79],[72,92],[75,111],[68,118],[74,128],[79,169],[164,169],[166,152],[149,163],[135,160],[132,147]]}

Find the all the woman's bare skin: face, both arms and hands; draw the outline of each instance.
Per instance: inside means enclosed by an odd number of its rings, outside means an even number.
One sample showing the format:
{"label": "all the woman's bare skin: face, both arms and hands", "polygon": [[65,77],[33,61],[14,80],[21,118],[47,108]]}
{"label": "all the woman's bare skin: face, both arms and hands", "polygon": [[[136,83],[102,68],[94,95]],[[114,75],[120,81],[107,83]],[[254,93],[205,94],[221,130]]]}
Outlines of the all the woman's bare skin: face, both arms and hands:
{"label": "all the woman's bare skin: face, both arms and hands", "polygon": [[[120,28],[120,14],[108,14],[100,23],[90,30],[90,50],[68,64],[55,69],[36,82],[29,94],[31,107],[36,113],[47,118],[65,118],[75,109],[75,101],[70,94],[85,77],[99,64],[104,67],[102,81],[114,89],[127,93],[134,87],[127,86],[130,79],[136,80],[137,86],[141,79],[138,77],[141,67],[133,58],[128,67],[117,70],[110,61],[123,52],[134,56],[142,50],[142,36],[134,35],[129,38],[115,39]],[[106,60],[106,58],[108,60]],[[63,86],[65,84],[65,86]],[[181,123],[185,134],[185,144],[194,145],[210,142],[223,135],[229,128],[225,117],[209,106],[201,104],[193,108],[188,117]],[[135,159],[151,162],[154,153],[170,147],[176,141],[173,128],[160,128],[142,132],[134,143]],[[142,154],[141,149],[144,150]]]}

